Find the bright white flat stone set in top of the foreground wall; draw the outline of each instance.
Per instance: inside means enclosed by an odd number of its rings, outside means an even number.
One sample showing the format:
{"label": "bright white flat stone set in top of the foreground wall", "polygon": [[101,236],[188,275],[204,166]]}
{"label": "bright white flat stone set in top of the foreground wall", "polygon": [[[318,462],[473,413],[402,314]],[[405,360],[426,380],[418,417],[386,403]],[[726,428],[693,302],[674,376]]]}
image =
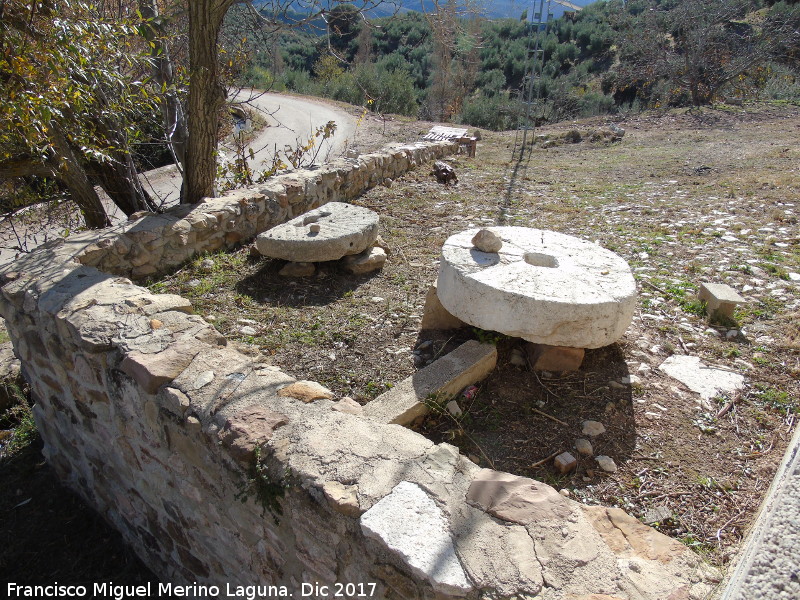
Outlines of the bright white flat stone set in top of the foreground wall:
{"label": "bright white flat stone set in top of the foreground wall", "polygon": [[398,554],[436,591],[463,596],[472,589],[453,548],[447,518],[417,484],[398,483],[361,515],[361,531]]}

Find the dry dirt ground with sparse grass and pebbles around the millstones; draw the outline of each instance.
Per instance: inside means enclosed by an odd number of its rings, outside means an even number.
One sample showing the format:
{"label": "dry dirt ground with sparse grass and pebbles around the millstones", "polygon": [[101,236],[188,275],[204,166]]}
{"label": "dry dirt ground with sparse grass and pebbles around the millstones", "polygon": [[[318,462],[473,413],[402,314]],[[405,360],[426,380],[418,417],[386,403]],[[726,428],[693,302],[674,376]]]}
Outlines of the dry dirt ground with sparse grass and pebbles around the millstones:
{"label": "dry dirt ground with sparse grass and pebbles around the millstones", "polygon": [[[151,287],[190,298],[229,339],[361,403],[466,339],[496,342],[498,367],[474,398],[459,399],[464,415],[436,409],[417,430],[483,465],[546,481],[586,503],[619,506],[725,565],[796,426],[800,110],[749,106],[614,120],[626,130],[619,142],[543,148],[538,139],[521,160],[520,136],[482,132],[477,158],[449,160],[457,185],[437,184],[426,165],[355,200],[381,216],[390,256],[379,273],[354,277],[322,265],[312,278],[287,280],[277,274],[279,261],[241,248],[198,257]],[[585,138],[606,122],[536,133],[555,139],[576,129]],[[397,120],[359,134],[369,138],[364,143],[408,141],[428,126]],[[471,328],[420,333],[444,240],[495,224],[576,235],[625,258],[639,288],[625,336],[587,352],[575,373],[548,374],[519,359],[521,340]],[[734,321],[708,322],[696,299],[704,281],[727,283],[748,299]],[[746,386],[701,402],[658,369],[673,353],[743,373]],[[638,381],[621,384],[627,375]],[[607,429],[592,441],[595,455],[618,465],[613,474],[573,449],[587,419]],[[552,456],[563,451],[579,458],[568,475],[553,467]],[[12,462],[0,463],[4,480],[17,477]],[[47,493],[19,481],[21,500],[4,491],[3,508]],[[4,481],[2,489],[10,487]],[[28,510],[47,510],[34,507]],[[36,515],[13,510],[22,521]],[[13,552],[0,565],[17,560]]]}

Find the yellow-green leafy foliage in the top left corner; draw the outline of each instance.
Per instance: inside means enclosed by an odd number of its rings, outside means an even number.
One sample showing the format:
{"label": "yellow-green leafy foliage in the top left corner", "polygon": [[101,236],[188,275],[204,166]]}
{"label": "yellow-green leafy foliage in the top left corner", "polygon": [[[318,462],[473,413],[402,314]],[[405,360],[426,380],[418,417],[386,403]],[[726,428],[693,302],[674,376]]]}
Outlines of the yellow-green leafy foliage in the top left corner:
{"label": "yellow-green leafy foliage in the top left corner", "polygon": [[110,18],[84,2],[7,0],[0,20],[0,161],[27,155],[46,160],[54,130],[90,160],[112,159],[104,135],[113,116],[135,138],[135,121],[155,99],[138,70],[134,19]]}

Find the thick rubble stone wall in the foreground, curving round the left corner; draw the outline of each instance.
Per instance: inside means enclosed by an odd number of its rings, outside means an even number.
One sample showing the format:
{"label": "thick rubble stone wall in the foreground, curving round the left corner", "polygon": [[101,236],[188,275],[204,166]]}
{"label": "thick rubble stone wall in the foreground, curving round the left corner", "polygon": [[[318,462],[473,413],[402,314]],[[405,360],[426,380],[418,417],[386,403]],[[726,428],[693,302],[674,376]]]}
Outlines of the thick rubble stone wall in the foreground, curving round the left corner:
{"label": "thick rubble stone wall in the foreground, curving round the left corner", "polygon": [[[262,194],[147,217],[155,229],[137,221],[41,248],[3,274],[0,312],[47,460],[162,581],[218,586],[223,597],[256,584],[309,598],[677,600],[709,591],[713,570],[621,510],[371,421],[228,344],[187,300],[74,260],[156,272],[272,222],[262,221],[265,199],[253,199]],[[280,210],[320,201],[287,194]],[[137,237],[162,222],[170,241]]]}

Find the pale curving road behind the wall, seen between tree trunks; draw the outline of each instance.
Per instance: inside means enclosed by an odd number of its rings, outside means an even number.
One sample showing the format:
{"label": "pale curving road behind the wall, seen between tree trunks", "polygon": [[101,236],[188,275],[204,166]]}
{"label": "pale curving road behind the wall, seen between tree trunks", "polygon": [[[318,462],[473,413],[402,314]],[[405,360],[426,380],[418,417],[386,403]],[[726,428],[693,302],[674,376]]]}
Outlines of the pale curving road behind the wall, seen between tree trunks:
{"label": "pale curving road behind the wall, seen between tree trunks", "polygon": [[[286,145],[294,148],[298,140],[305,143],[317,127],[325,125],[328,121],[336,122],[336,133],[321,147],[316,159],[318,163],[342,154],[347,141],[352,140],[355,133],[356,119],[322,100],[250,90],[241,92],[236,99],[247,102],[269,123],[269,126],[260,131],[250,143],[255,153],[252,165],[254,170],[263,169],[271,164],[276,147],[278,150],[283,150]],[[233,158],[233,153],[226,150],[225,144],[221,145],[221,152]],[[265,162],[266,165],[263,164]],[[158,199],[159,203],[171,206],[178,201],[181,176],[174,165],[142,173],[140,177],[147,190]],[[125,219],[125,215],[113,203],[107,198],[103,200],[112,221]],[[72,221],[74,223],[72,226],[75,227],[79,219],[73,218]],[[64,226],[60,224],[25,226],[19,220],[15,220],[15,223],[16,231],[12,231],[5,223],[0,225],[0,264],[14,259],[16,252],[7,249],[6,246],[16,245],[17,236],[23,240],[28,249],[33,249],[47,239],[58,237],[64,231]]]}

